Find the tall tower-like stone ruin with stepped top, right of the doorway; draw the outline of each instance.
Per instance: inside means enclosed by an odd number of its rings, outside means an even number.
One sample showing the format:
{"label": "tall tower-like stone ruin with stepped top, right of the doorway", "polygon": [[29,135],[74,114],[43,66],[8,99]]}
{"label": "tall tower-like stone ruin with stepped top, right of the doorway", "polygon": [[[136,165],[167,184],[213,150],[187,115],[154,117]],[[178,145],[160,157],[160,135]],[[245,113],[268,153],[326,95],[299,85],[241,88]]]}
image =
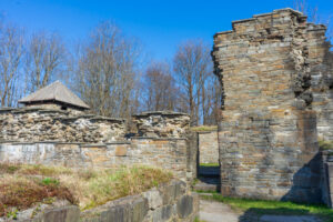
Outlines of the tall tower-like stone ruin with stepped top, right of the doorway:
{"label": "tall tower-like stone ruin with stepped top, right of the doorway", "polygon": [[232,27],[212,52],[223,88],[222,194],[322,202],[312,75],[325,72],[325,27],[291,9]]}

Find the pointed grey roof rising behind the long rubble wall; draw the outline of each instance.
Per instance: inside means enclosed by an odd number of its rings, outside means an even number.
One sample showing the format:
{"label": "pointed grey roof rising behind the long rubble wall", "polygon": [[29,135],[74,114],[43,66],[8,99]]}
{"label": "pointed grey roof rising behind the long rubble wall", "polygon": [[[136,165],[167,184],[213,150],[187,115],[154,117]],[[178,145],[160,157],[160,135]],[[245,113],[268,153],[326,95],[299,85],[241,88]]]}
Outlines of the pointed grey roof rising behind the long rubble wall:
{"label": "pointed grey roof rising behind the long rubble wall", "polygon": [[32,94],[27,95],[26,98],[19,100],[19,103],[33,103],[43,101],[58,101],[83,109],[90,109],[88,104],[85,104],[78,95],[70,91],[60,81],[56,81],[52,84],[49,84],[33,92]]}

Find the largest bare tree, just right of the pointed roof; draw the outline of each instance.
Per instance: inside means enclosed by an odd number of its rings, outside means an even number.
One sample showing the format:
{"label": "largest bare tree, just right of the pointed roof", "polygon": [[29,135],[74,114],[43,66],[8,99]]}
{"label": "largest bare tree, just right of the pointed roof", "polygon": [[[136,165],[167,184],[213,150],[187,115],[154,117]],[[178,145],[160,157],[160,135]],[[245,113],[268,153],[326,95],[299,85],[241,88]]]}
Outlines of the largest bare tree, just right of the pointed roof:
{"label": "largest bare tree, just right of the pointed roof", "polygon": [[138,80],[139,44],[111,22],[100,23],[80,48],[74,88],[92,111],[129,117]]}

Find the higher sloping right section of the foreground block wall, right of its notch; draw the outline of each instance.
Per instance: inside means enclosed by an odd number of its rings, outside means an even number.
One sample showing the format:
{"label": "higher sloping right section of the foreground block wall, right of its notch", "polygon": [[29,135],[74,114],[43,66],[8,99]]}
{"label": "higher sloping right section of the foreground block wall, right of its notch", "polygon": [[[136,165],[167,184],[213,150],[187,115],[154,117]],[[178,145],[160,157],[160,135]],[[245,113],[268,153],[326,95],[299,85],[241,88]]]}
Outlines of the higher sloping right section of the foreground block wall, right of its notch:
{"label": "higher sloping right section of the foreground block wall, right of its notch", "polygon": [[184,182],[174,180],[141,195],[123,198],[87,211],[82,213],[81,221],[192,222],[198,214],[198,194],[191,193]]}

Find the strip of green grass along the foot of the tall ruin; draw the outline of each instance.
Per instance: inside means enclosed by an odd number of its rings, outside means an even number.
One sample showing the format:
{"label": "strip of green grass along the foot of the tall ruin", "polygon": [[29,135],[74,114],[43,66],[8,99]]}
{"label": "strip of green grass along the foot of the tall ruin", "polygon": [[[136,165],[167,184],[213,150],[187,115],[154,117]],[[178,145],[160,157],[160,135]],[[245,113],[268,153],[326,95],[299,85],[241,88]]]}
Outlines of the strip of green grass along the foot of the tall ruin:
{"label": "strip of green grass along the foot of the tall ruin", "polygon": [[249,200],[239,198],[225,198],[213,193],[211,196],[202,196],[208,200],[215,200],[230,205],[235,211],[251,214],[283,214],[283,215],[316,215],[324,221],[333,221],[333,210],[325,205],[301,204],[282,201]]}

